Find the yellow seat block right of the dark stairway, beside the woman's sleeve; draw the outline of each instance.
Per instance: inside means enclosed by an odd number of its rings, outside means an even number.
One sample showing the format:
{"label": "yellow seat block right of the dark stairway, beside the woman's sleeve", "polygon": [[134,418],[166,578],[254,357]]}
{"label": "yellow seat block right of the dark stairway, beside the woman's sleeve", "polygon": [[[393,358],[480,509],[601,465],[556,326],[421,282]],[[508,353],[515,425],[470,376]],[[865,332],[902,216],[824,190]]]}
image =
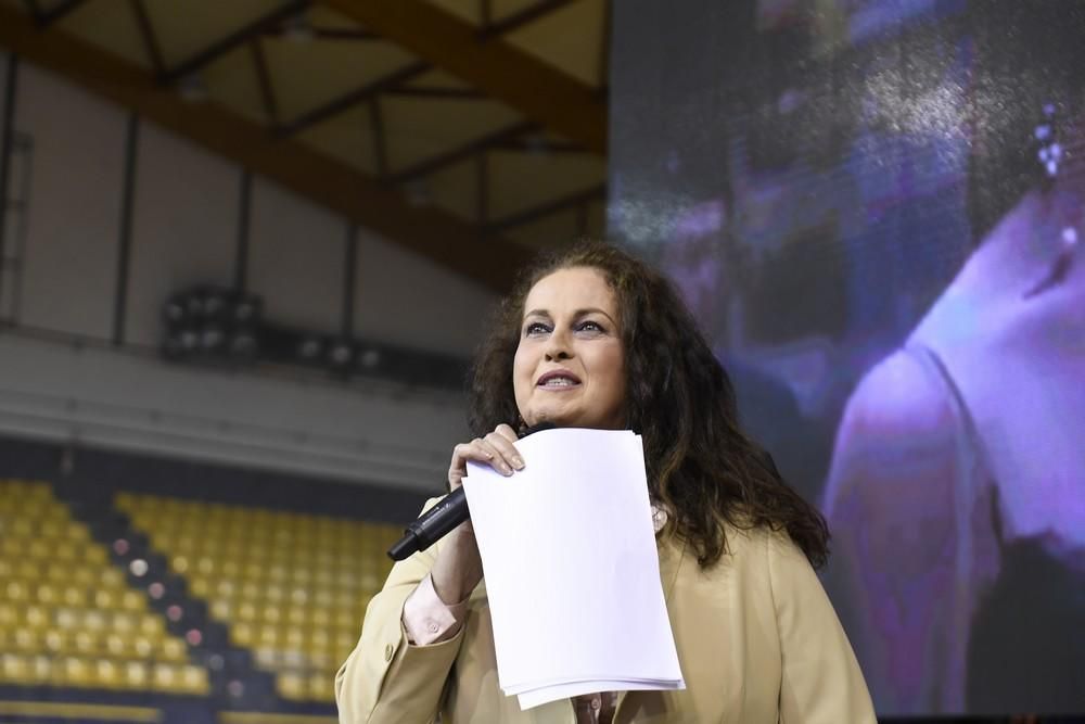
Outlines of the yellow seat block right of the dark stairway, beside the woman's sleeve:
{"label": "yellow seat block right of the dark stairway, beside the woman's sleeve", "polygon": [[335,671],[387,576],[385,550],[399,529],[131,493],[116,506],[207,601],[231,643],[276,675],[282,698],[334,700]]}

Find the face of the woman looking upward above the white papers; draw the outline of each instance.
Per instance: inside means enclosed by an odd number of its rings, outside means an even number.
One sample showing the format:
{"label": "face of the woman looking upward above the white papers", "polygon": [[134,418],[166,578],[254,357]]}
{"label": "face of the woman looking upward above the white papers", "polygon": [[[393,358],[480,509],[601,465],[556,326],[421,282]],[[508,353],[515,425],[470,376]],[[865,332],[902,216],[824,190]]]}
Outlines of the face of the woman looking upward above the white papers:
{"label": "face of the woman looking upward above the white papers", "polygon": [[618,430],[626,424],[617,301],[597,269],[560,269],[524,301],[512,382],[528,425]]}

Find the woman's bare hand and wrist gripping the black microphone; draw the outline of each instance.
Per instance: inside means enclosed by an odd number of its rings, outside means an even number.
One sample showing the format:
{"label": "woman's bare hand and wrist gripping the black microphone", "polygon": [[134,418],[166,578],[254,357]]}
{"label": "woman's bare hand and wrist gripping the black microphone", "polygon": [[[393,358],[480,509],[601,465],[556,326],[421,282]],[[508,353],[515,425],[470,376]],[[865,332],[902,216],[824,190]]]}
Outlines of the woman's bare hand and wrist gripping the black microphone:
{"label": "woman's bare hand and wrist gripping the black microphone", "polygon": [[[468,460],[488,465],[502,475],[522,470],[524,460],[513,446],[516,432],[507,424],[499,424],[485,437],[475,437],[452,448],[448,466],[448,485],[455,491],[468,472]],[[482,559],[475,543],[471,521],[457,526],[445,537],[437,560],[430,572],[433,588],[446,605],[452,606],[467,598],[482,581]]]}

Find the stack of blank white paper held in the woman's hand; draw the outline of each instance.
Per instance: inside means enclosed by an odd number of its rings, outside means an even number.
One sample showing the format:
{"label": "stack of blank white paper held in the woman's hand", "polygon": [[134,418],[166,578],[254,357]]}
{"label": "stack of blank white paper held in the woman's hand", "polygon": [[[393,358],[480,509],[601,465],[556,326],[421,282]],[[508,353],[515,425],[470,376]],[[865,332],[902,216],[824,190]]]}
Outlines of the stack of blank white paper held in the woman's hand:
{"label": "stack of blank white paper held in the woman's hand", "polygon": [[557,429],[505,478],[463,480],[497,673],[521,709],[582,694],[685,688],[667,618],[640,436]]}

